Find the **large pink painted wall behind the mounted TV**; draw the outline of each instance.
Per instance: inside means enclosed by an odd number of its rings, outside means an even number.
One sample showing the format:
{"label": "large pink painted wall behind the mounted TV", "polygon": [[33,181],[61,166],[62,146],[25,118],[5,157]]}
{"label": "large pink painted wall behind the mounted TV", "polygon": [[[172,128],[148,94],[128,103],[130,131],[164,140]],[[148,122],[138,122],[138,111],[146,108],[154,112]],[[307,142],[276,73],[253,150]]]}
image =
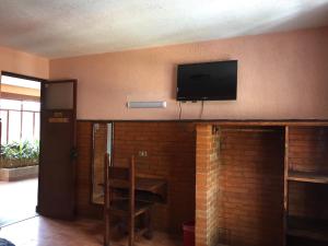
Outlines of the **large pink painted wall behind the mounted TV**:
{"label": "large pink painted wall behind the mounted TV", "polygon": [[[328,27],[55,59],[50,78],[79,80],[79,119],[177,119],[176,65],[225,59],[239,60],[238,98],[206,102],[202,118],[328,118]],[[183,105],[183,118],[199,116],[200,103]]]}

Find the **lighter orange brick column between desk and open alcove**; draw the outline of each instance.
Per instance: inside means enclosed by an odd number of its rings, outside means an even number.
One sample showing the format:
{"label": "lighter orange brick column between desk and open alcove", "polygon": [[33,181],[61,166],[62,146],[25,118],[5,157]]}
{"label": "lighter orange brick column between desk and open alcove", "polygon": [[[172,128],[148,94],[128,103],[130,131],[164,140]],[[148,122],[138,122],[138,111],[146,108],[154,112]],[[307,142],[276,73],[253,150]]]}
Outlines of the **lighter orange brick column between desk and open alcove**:
{"label": "lighter orange brick column between desk and open alcove", "polygon": [[219,241],[219,147],[211,125],[197,126],[196,246],[216,246]]}

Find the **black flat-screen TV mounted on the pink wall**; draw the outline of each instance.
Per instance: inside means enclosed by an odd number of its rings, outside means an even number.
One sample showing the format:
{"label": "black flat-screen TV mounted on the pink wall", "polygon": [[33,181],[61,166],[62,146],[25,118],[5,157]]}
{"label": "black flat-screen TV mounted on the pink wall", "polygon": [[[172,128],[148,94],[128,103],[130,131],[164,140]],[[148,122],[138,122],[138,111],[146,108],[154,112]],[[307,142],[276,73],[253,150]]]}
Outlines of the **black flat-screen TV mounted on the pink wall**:
{"label": "black flat-screen TV mounted on the pink wall", "polygon": [[237,98],[237,60],[179,65],[177,101]]}

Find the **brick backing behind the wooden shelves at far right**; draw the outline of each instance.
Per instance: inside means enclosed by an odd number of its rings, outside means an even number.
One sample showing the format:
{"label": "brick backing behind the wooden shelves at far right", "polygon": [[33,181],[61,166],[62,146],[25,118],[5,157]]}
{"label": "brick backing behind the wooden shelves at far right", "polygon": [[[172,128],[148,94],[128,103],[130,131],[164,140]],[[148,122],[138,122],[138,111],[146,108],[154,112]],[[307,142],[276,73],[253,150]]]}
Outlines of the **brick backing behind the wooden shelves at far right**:
{"label": "brick backing behind the wooden shelves at far right", "polygon": [[[328,174],[328,129],[290,127],[290,168]],[[325,185],[290,183],[290,215],[328,219]]]}

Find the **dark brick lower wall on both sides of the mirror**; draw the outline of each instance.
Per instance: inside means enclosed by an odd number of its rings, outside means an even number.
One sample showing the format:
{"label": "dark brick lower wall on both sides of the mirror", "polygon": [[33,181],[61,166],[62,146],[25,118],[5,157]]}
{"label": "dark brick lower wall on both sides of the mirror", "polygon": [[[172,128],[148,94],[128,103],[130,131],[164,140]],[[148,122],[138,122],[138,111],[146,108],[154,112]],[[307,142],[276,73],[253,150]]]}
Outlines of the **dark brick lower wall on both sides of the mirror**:
{"label": "dark brick lower wall on both sides of the mirror", "polygon": [[[78,122],[78,214],[102,218],[102,207],[91,203],[92,122]],[[116,122],[114,132],[116,164],[127,164],[136,155],[140,176],[165,178],[166,204],[156,204],[153,221],[157,230],[181,233],[181,223],[195,219],[195,125],[188,122]],[[147,157],[139,157],[147,151]],[[99,159],[101,160],[101,159]]]}

